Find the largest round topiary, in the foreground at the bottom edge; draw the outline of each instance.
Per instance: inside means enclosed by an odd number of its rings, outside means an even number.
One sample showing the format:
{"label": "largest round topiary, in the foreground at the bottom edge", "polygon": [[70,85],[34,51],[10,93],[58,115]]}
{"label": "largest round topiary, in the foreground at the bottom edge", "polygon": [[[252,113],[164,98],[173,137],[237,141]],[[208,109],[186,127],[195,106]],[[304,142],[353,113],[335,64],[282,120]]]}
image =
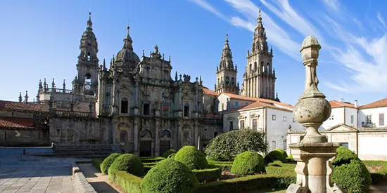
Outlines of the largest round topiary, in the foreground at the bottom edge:
{"label": "largest round topiary, in the foreground at the bottom edge", "polygon": [[187,166],[174,159],[164,159],[153,166],[141,182],[147,193],[191,193],[198,180]]}

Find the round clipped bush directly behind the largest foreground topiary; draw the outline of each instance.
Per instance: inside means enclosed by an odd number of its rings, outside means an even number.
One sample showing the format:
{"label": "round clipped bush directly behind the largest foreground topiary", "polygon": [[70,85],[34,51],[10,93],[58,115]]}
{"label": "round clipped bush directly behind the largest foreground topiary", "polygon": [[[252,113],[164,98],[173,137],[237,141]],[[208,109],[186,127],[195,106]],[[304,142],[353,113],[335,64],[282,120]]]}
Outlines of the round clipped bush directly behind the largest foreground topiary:
{"label": "round clipped bush directly behind the largest foreground topiary", "polygon": [[208,161],[203,152],[194,146],[184,146],[175,155],[175,160],[185,164],[191,170],[201,170],[208,167]]}

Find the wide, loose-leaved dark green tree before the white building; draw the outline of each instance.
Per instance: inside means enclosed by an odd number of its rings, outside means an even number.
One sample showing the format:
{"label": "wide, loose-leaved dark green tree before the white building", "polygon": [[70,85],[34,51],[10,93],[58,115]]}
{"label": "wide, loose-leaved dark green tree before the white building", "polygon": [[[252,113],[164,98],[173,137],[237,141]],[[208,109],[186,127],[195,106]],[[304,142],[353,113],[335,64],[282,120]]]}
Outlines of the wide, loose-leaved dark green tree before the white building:
{"label": "wide, loose-leaved dark green tree before the white building", "polygon": [[212,160],[230,160],[242,152],[266,152],[265,133],[248,128],[217,135],[205,147],[205,154]]}

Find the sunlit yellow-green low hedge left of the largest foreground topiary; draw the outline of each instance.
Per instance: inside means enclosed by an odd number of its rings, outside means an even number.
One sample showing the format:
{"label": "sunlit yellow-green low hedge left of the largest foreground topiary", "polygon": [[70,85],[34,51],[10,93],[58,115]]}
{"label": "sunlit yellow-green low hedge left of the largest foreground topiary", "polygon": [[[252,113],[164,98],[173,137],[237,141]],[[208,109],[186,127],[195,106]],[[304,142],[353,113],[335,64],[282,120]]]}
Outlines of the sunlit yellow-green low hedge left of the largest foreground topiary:
{"label": "sunlit yellow-green low hedge left of the largest foreground topiary", "polygon": [[122,187],[125,192],[141,192],[142,178],[125,171],[116,171],[109,168],[109,179]]}

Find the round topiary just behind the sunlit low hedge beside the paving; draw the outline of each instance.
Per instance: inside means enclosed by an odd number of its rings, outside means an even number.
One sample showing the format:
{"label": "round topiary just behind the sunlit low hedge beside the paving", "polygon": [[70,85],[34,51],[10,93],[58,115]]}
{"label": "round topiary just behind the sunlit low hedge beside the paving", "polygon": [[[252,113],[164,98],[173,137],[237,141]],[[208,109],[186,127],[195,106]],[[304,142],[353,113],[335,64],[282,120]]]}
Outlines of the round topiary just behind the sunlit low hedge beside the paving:
{"label": "round topiary just behind the sunlit low hedge beside the paving", "polygon": [[117,171],[126,171],[132,175],[137,175],[139,177],[144,176],[144,166],[142,165],[139,157],[134,154],[122,154],[120,157],[113,161],[113,164],[110,166],[111,170]]}

